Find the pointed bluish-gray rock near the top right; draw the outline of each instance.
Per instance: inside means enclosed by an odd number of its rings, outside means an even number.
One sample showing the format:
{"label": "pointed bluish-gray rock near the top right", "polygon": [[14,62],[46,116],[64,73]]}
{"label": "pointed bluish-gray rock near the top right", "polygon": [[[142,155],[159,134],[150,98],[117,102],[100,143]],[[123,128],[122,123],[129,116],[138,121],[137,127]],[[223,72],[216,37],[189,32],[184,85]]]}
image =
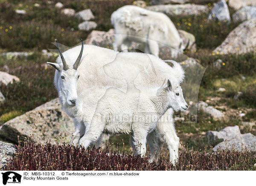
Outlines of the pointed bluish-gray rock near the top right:
{"label": "pointed bluish-gray rock near the top right", "polygon": [[208,16],[208,20],[219,20],[230,22],[230,13],[225,0],[219,1],[212,9]]}

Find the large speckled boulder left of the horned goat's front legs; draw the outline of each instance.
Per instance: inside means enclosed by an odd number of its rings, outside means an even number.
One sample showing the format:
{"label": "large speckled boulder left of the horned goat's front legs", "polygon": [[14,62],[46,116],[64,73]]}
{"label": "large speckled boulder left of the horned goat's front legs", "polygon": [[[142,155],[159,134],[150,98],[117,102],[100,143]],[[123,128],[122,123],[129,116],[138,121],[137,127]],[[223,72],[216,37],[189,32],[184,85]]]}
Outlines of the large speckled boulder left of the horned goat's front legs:
{"label": "large speckled boulder left of the horned goat's front legs", "polygon": [[66,134],[67,140],[73,133],[73,119],[61,110],[58,99],[30,110],[21,116],[9,120],[0,126],[0,137],[17,143],[34,134],[35,141],[44,139],[54,141],[60,134]]}

